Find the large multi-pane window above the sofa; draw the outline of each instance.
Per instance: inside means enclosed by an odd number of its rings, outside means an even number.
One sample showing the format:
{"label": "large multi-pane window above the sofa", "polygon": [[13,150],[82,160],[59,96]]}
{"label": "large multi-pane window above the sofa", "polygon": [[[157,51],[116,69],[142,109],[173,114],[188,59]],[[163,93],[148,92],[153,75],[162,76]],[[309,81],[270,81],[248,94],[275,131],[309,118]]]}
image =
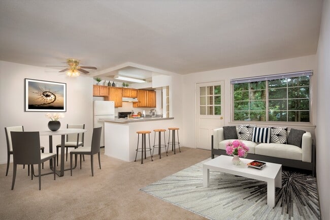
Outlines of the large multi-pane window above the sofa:
{"label": "large multi-pane window above the sofa", "polygon": [[231,80],[234,120],[310,122],[312,71]]}

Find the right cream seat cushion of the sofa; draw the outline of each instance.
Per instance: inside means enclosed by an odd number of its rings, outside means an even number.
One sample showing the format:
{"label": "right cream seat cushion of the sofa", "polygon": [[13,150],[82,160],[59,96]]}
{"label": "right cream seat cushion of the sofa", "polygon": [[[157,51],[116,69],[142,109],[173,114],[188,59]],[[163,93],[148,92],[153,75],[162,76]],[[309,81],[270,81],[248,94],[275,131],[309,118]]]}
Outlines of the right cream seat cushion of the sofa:
{"label": "right cream seat cushion of the sofa", "polygon": [[274,156],[302,161],[302,148],[291,144],[260,143],[255,147],[255,154]]}

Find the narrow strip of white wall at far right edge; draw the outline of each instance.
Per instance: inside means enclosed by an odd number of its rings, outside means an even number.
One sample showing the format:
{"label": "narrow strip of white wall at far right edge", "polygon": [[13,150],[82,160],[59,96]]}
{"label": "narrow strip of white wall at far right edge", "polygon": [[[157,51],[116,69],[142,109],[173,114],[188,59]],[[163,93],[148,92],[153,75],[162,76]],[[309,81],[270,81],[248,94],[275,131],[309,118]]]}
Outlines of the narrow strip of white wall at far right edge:
{"label": "narrow strip of white wall at far right edge", "polygon": [[321,218],[330,219],[330,191],[329,191],[329,122],[330,122],[330,2],[323,2],[322,22],[317,48],[318,55],[318,83],[317,83],[317,151],[316,172]]}

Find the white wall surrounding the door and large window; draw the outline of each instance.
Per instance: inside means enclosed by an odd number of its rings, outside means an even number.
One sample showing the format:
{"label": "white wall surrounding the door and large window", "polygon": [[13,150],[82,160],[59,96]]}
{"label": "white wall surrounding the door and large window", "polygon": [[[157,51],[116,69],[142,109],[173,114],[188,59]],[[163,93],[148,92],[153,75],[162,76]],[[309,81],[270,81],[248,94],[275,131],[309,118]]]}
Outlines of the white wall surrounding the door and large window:
{"label": "white wall surrounding the door and large window", "polygon": [[[262,76],[271,74],[280,74],[288,72],[296,72],[303,70],[314,70],[313,87],[316,87],[317,75],[317,57],[316,55],[297,57],[291,59],[277,60],[272,62],[263,62],[260,64],[213,70],[207,72],[193,73],[183,76],[183,140],[187,146],[195,147],[195,85],[196,83],[224,81],[224,125],[230,123],[231,117],[231,86],[230,79]],[[312,112],[313,122],[310,126],[300,127],[306,131],[312,132],[314,135],[314,126],[316,124],[316,92],[312,95],[314,109]],[[255,124],[255,123],[253,123]],[[262,124],[260,124],[262,125]],[[265,125],[265,124],[264,124]],[[270,124],[271,125],[271,124]],[[283,124],[285,125],[285,124]],[[289,128],[292,128],[292,124]],[[299,128],[294,126],[294,128]],[[211,143],[210,143],[211,144]]]}

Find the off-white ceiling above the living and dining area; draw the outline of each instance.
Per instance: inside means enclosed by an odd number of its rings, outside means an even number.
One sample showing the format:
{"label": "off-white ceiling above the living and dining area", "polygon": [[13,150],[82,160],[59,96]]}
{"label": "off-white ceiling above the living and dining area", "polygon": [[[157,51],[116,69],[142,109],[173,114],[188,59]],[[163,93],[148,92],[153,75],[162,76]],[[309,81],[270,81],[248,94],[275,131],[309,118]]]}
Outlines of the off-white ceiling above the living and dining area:
{"label": "off-white ceiling above the living and dining area", "polygon": [[97,67],[91,75],[109,76],[128,63],[189,74],[299,57],[316,53],[321,7],[321,0],[2,0],[0,60],[45,67],[75,57]]}

